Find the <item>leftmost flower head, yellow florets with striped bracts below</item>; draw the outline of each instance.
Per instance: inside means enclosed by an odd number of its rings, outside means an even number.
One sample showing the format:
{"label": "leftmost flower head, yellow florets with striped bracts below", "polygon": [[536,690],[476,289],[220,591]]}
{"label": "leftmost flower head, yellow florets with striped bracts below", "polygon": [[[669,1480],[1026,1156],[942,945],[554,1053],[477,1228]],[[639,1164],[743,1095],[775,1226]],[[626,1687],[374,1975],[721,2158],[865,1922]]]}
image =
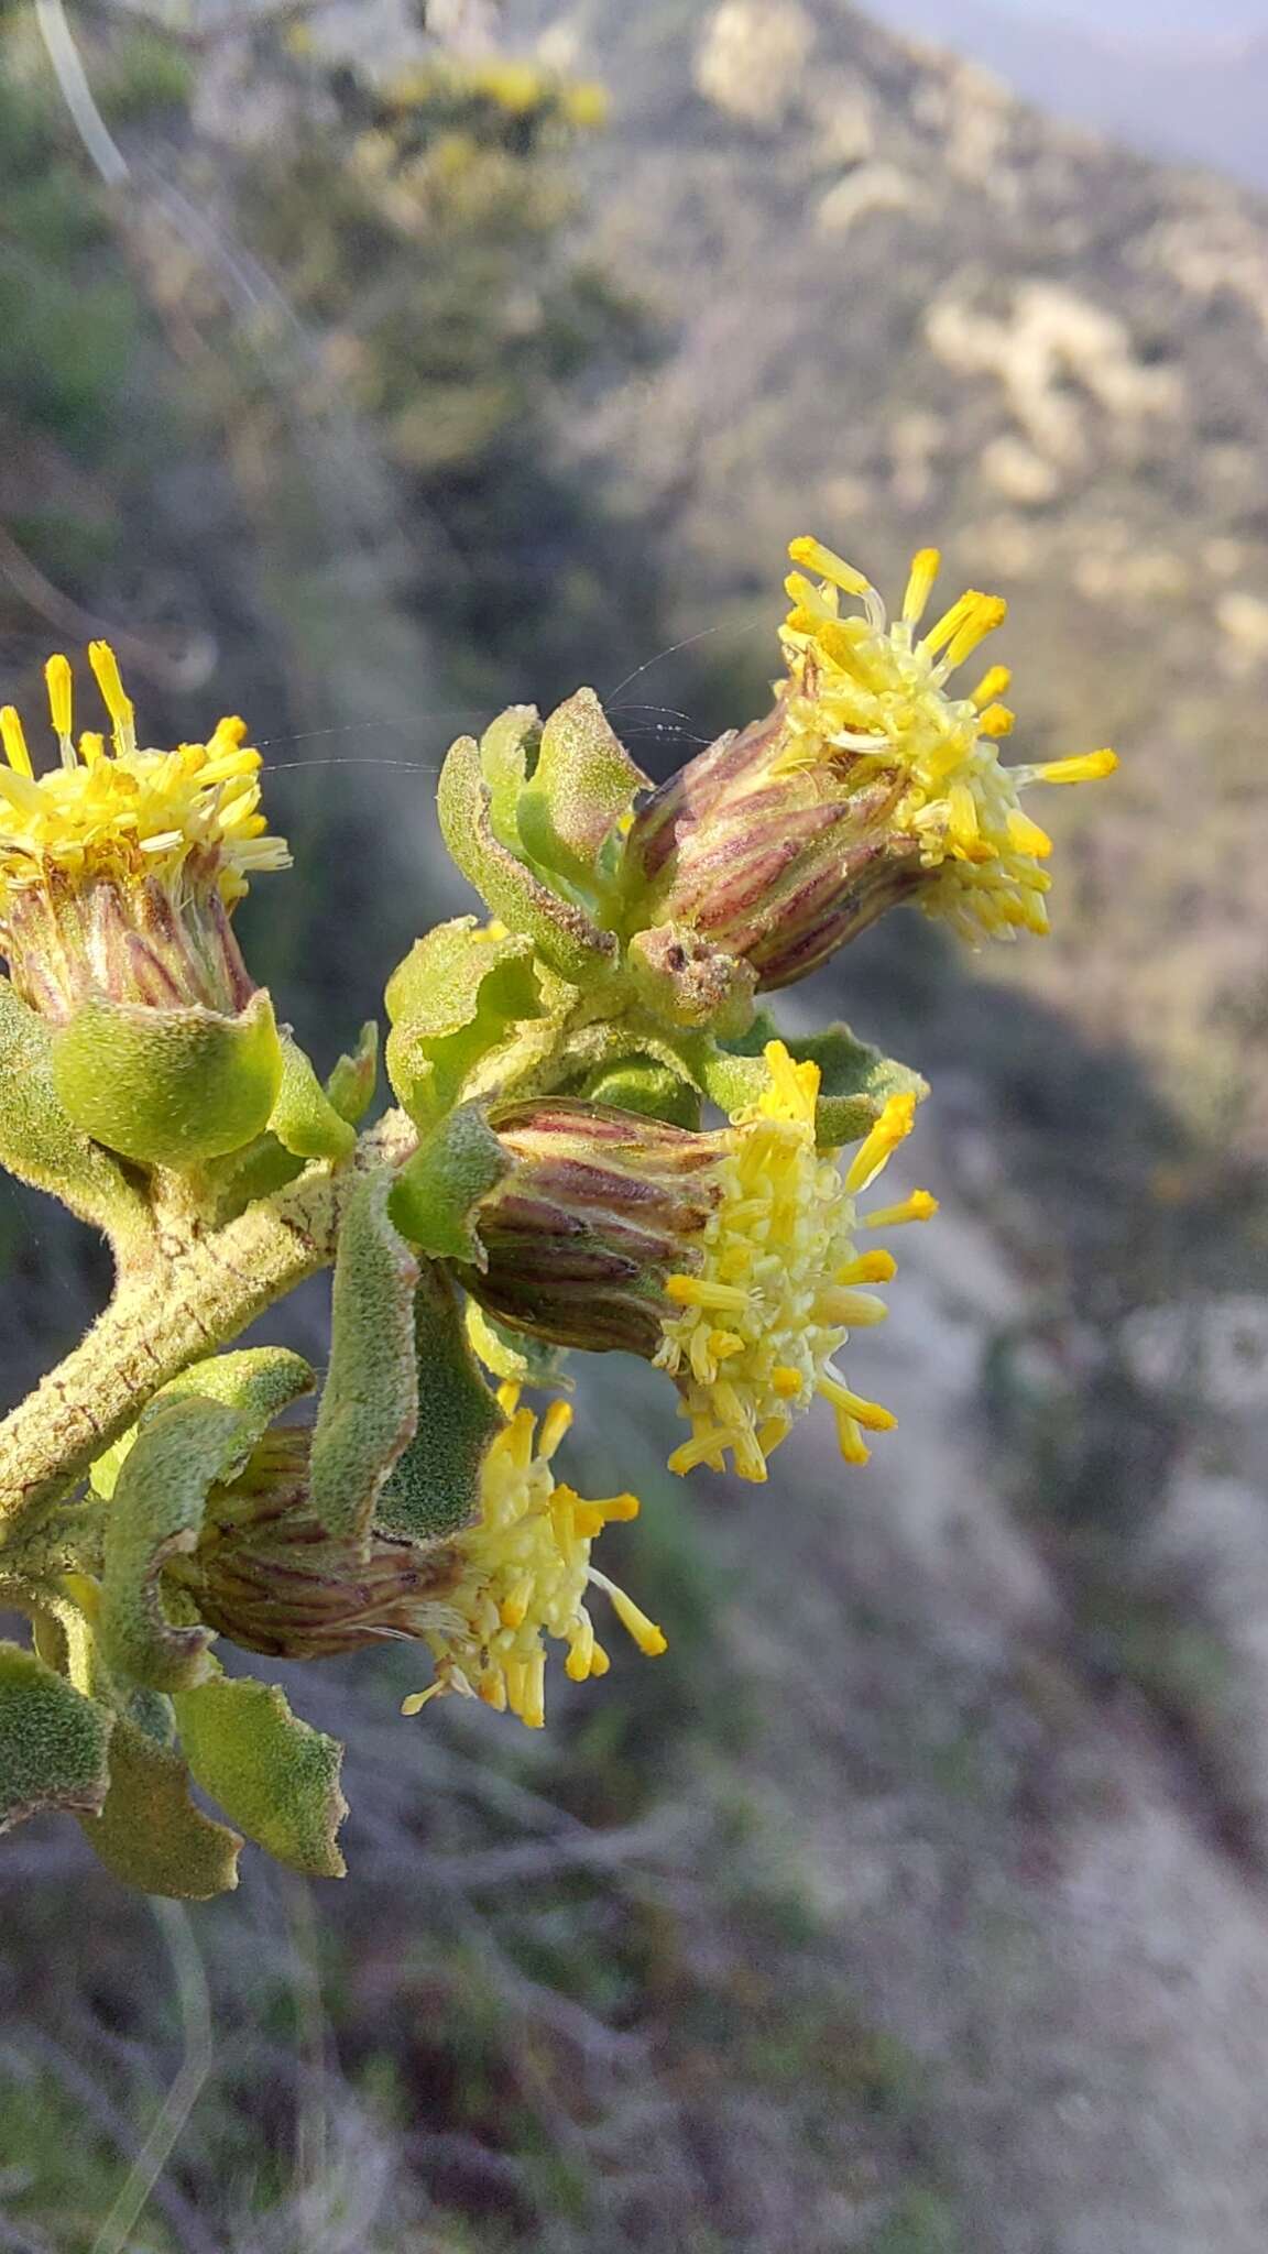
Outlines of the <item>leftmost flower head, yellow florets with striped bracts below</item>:
{"label": "leftmost flower head, yellow florets with striped bracts below", "polygon": [[253,994],[230,913],[259,870],[287,868],[259,811],[259,753],[241,719],[205,744],[138,746],[108,642],[88,660],[108,719],[72,735],[72,672],[45,665],[59,764],[36,773],[0,710],[0,951],[32,1008],[65,1019],[90,990],[151,1008],[237,1012]]}

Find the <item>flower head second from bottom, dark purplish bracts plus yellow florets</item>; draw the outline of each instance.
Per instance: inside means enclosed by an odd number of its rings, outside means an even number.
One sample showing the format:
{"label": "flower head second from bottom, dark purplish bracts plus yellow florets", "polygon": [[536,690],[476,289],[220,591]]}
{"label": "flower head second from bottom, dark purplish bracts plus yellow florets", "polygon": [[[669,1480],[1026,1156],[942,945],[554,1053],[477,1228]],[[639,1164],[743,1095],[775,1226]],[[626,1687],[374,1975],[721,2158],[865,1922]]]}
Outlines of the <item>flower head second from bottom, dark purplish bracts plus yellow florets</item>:
{"label": "flower head second from bottom, dark purplish bracts plus yellow florets", "polygon": [[[783,1041],[765,1066],[758,1102],[713,1134],[602,1104],[492,1113],[510,1170],[476,1206],[483,1267],[463,1280],[512,1328],[668,1370],[690,1420],[675,1472],[731,1458],[742,1479],[765,1479],[817,1395],[851,1463],[866,1461],[864,1429],[893,1422],[851,1391],[835,1355],[887,1312],[864,1287],[889,1283],[893,1258],[860,1251],[855,1201],[909,1134],[916,1100],[893,1095],[842,1172],[814,1143],[819,1068]],[[862,1226],[934,1210],[916,1190]]]}

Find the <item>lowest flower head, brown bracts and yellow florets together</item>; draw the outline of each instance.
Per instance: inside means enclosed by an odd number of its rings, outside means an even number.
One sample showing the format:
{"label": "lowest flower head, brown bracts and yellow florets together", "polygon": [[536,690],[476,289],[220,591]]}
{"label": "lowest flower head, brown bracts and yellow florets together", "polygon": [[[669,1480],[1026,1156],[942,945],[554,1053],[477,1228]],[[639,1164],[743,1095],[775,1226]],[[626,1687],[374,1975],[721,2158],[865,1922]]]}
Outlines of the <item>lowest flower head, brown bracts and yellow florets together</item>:
{"label": "lowest flower head, brown bracts and yellow florets together", "polygon": [[212,1490],[199,1551],[174,1567],[201,1618],[282,1659],[327,1659],[384,1636],[422,1641],[435,1681],[406,1700],[406,1713],[456,1690],[532,1729],[546,1718],[546,1641],[566,1645],[573,1681],[607,1675],[591,1587],[643,1652],[663,1652],[661,1630],[591,1567],[602,1526],[634,1519],[639,1499],[591,1503],[555,1481],[553,1456],[573,1420],[566,1402],[546,1411],[539,1434],[514,1386],[499,1402],[505,1427],[483,1461],[481,1517],[431,1546],[381,1533],[332,1539],[309,1506],[311,1434],[266,1434],[246,1470]]}

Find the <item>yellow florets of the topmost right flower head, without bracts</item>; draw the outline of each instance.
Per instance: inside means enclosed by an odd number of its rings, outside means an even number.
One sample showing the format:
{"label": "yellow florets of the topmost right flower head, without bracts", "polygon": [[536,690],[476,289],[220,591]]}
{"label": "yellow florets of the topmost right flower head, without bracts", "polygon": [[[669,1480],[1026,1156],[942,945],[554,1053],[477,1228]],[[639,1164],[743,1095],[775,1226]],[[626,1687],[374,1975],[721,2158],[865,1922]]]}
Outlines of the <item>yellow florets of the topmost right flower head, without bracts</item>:
{"label": "yellow florets of the topmost right flower head, without bracts", "polygon": [[[814,539],[790,545],[785,586],[792,611],[781,642],[787,660],[787,769],[864,760],[896,771],[898,796],[887,827],[921,843],[921,863],[936,879],[921,890],[930,915],[943,915],[966,938],[1011,938],[1047,931],[1040,868],[1051,843],[1020,807],[1029,782],[1092,782],[1117,766],[1112,751],[1090,751],[1040,766],[1002,766],[1000,737],[1013,712],[1000,699],[1009,672],[993,665],[968,696],[950,696],[950,676],[1002,622],[1000,595],[966,593],[918,636],[939,550],[923,548],[889,622],[884,602],[853,564]],[[842,618],[842,595],[862,615]],[[871,780],[866,773],[862,782]]]}

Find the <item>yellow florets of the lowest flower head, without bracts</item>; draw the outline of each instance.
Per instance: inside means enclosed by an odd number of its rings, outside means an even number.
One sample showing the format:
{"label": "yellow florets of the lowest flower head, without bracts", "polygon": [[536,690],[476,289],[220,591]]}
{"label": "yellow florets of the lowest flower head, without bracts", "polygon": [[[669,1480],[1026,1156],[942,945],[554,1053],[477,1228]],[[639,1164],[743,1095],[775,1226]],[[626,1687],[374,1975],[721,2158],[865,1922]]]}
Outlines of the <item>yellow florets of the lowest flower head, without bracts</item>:
{"label": "yellow florets of the lowest flower head, without bracts", "polygon": [[573,1413],[553,1402],[537,1436],[537,1418],[519,1406],[519,1388],[503,1386],[508,1425],[483,1465],[481,1524],[454,1537],[458,1582],[444,1591],[447,1618],[424,1627],[435,1659],[435,1681],[404,1702],[417,1713],[431,1697],[458,1690],[481,1697],[541,1729],[546,1722],[546,1639],[566,1643],[571,1681],[607,1675],[609,1659],[587,1612],[589,1587],[605,1589],[620,1625],[654,1659],[666,1639],[643,1612],[591,1567],[591,1546],[609,1519],[639,1515],[634,1494],[587,1503],[555,1483],[551,1458]]}

